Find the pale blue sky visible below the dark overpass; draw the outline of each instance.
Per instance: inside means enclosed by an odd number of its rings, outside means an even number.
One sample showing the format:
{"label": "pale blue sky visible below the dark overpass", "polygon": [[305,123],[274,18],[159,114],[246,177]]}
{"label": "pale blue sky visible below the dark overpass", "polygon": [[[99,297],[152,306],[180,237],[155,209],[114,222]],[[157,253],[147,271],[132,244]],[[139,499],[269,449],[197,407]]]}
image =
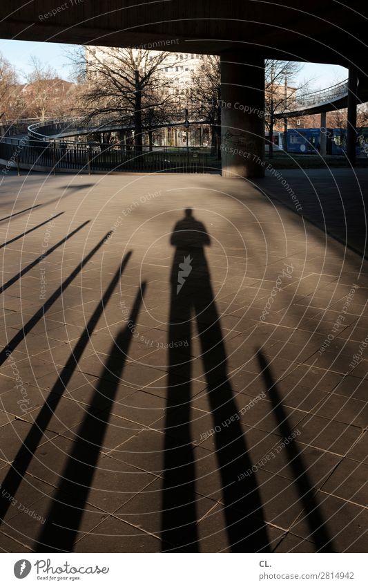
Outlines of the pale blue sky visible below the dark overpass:
{"label": "pale blue sky visible below the dark overpass", "polygon": [[[38,43],[36,41],[13,41],[0,39],[0,53],[6,57],[21,73],[30,71],[30,56],[35,55],[43,63],[47,63],[57,71],[59,77],[68,79],[71,68],[65,55],[70,45],[58,43]],[[313,78],[311,89],[325,88],[344,80],[347,70],[338,65],[304,64],[299,79]]]}

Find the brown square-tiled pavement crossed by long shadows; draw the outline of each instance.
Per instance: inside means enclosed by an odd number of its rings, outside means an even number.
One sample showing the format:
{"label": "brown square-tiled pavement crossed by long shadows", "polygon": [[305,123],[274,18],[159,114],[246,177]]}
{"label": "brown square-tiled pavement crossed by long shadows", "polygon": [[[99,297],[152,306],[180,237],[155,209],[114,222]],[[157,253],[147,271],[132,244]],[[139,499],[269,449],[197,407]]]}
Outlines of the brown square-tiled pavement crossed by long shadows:
{"label": "brown square-tiled pavement crossed by long shadows", "polygon": [[219,176],[8,175],[0,210],[3,551],[367,550],[359,254]]}

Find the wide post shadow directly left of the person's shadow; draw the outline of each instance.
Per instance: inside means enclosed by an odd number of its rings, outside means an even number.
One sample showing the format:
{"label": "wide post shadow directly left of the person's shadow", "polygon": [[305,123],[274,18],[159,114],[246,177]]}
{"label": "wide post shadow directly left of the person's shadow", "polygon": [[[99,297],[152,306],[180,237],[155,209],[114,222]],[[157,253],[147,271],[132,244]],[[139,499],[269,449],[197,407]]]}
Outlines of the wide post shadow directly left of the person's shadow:
{"label": "wide post shadow directly left of the person's shadow", "polygon": [[[132,339],[131,324],[137,322],[145,288],[146,283],[142,283],[135,297],[128,324],[120,331],[110,348],[110,355],[86,416],[75,434],[76,442],[60,476],[57,494],[52,498],[53,503],[46,515],[46,523],[35,546],[36,552],[73,550],[97,460],[104,445],[111,409],[121,381],[120,375],[128,355]],[[101,398],[104,398],[105,402],[104,411],[99,411]]]}

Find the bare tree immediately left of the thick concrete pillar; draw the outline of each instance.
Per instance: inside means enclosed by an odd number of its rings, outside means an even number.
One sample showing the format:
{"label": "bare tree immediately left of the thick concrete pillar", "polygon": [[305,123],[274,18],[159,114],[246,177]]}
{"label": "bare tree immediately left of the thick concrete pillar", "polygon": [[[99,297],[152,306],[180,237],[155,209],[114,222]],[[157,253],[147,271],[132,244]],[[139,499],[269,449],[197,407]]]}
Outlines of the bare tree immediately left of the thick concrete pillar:
{"label": "bare tree immediately left of the thick concrete pillar", "polygon": [[[191,104],[193,113],[211,127],[211,153],[220,157],[221,73],[220,57],[202,55],[201,66],[193,73]],[[193,116],[192,113],[192,116]]]}

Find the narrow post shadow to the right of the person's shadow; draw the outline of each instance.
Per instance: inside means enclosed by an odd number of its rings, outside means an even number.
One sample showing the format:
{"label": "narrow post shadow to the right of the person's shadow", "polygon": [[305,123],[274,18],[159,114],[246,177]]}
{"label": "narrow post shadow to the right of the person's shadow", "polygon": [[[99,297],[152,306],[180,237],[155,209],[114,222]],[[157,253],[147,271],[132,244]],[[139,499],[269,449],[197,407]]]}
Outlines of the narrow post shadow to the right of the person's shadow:
{"label": "narrow post shadow to the right of the person's shadow", "polygon": [[[261,351],[258,351],[258,361],[260,362],[260,369],[264,378],[264,384],[269,394],[273,407],[273,414],[278,420],[278,428],[282,434],[282,438],[288,438],[292,434],[289,426],[287,413],[282,406],[282,399],[278,392],[278,387],[272,377],[267,360],[264,358]],[[313,539],[316,550],[318,552],[335,552],[333,548],[333,539],[329,534],[327,524],[322,517],[319,509],[318,501],[316,500],[316,489],[311,484],[307,473],[307,467],[303,463],[303,458],[298,451],[296,442],[292,441],[285,447],[288,454],[288,462],[295,477],[296,487],[298,489],[300,499],[302,501],[304,516],[309,524],[311,530],[311,539]]]}

